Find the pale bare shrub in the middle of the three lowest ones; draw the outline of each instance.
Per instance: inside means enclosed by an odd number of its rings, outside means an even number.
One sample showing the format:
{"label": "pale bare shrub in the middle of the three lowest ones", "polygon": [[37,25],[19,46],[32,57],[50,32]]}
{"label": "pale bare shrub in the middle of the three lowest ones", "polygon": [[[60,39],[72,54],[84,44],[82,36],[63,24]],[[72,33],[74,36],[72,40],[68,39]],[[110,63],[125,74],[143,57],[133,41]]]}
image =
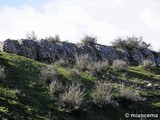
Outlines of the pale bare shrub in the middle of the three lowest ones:
{"label": "pale bare shrub in the middle of the three lowest ones", "polygon": [[109,81],[98,81],[93,89],[94,103],[102,107],[112,103],[112,85]]}

